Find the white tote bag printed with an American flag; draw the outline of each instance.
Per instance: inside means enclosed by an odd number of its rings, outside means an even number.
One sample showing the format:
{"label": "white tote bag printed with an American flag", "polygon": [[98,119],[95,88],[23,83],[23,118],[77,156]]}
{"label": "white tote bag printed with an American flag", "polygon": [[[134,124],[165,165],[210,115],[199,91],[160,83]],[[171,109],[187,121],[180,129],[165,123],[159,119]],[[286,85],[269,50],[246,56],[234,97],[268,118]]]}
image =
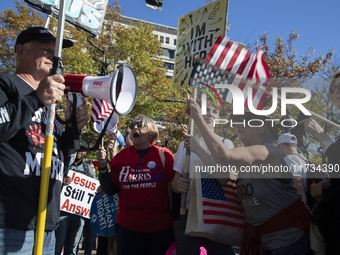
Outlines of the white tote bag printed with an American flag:
{"label": "white tote bag printed with an American flag", "polygon": [[[222,185],[204,172],[196,172],[190,196],[185,233],[206,237],[219,243],[241,246],[246,222],[234,179]],[[198,177],[198,176],[197,176]],[[194,193],[193,193],[194,194]],[[192,203],[191,199],[196,199]]]}

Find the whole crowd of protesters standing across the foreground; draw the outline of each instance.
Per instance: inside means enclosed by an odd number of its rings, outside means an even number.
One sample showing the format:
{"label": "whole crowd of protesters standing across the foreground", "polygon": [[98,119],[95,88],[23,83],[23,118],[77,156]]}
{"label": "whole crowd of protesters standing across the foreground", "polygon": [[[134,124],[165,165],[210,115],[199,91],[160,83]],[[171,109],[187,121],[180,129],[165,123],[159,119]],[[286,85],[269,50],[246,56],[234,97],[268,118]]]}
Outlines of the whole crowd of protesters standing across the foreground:
{"label": "whole crowd of protesters standing across the foreground", "polygon": [[[65,89],[63,76],[50,74],[55,41],[43,27],[22,31],[15,43],[15,73],[0,74],[0,254],[32,254],[34,249],[47,107],[60,103]],[[71,41],[63,41],[64,48],[71,46]],[[332,78],[329,99],[340,109],[340,72]],[[230,120],[238,123],[235,132],[243,144],[234,148],[231,140],[215,133],[220,111],[221,105],[208,100],[203,115],[200,103],[188,96],[186,113],[197,129],[195,134],[183,129],[183,141],[175,156],[169,149],[155,145],[159,138],[156,123],[146,115],[137,116],[124,131],[125,148],[118,151],[111,140],[97,151],[99,176],[85,162],[86,152],[72,157],[72,124],[63,128],[55,120],[43,254],[77,254],[83,231],[89,247],[86,250],[92,250],[95,233],[90,221],[60,212],[62,187],[72,182],[67,174],[70,170],[98,178],[99,191],[109,196],[118,193],[116,234],[98,239],[106,246],[114,242],[114,254],[162,255],[174,243],[179,255],[200,254],[202,246],[209,255],[235,254],[232,245],[185,234],[194,176],[193,167],[186,169],[188,155],[189,165],[200,160],[206,166],[285,166],[291,170],[238,172],[236,185],[246,221],[241,255],[307,255],[311,251],[318,255],[340,254],[340,178],[336,172],[311,188],[305,169],[310,162],[298,151],[297,137],[279,135],[273,122],[264,121],[271,119],[269,115],[249,111],[230,115]],[[71,116],[68,100],[65,115]],[[89,120],[86,104],[77,108],[76,117],[80,132]],[[298,125],[319,141],[328,164],[339,166],[340,140],[333,141],[314,119],[305,119]],[[80,145],[84,150],[87,147],[84,141]],[[229,177],[228,172],[223,172],[213,173],[210,178],[223,186]],[[175,216],[179,207],[178,200],[174,202],[171,196],[173,192],[187,194],[179,219]],[[316,202],[310,202],[309,197]],[[177,220],[178,228],[174,230]],[[313,243],[315,239],[311,241],[316,231],[318,246]]]}

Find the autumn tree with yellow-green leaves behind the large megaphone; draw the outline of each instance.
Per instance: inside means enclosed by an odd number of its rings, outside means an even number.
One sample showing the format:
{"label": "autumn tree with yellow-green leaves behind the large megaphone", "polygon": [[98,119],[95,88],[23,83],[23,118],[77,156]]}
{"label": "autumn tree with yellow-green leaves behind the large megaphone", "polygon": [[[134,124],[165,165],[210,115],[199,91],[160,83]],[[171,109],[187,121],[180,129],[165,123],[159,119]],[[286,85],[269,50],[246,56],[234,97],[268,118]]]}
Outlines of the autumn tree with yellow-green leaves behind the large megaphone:
{"label": "autumn tree with yellow-green leaves behind the large megaphone", "polygon": [[[73,40],[74,46],[62,51],[64,73],[97,76],[103,64],[106,74],[115,72],[120,63],[131,65],[138,83],[137,99],[128,115],[119,116],[119,130],[122,132],[139,114],[166,120],[163,126],[169,131],[174,130],[188,119],[183,111],[186,90],[172,91],[171,80],[166,78],[166,69],[161,60],[161,43],[152,34],[154,27],[143,22],[124,26],[116,22],[121,12],[118,1],[108,4],[98,40],[91,38],[85,31],[65,26],[64,37]],[[45,14],[19,1],[16,2],[16,11],[7,9],[0,12],[0,71],[13,73],[15,70],[14,44],[19,32],[29,26],[45,26],[46,20]],[[52,18],[48,28],[56,34],[57,20]],[[89,115],[92,100],[86,98]],[[62,108],[58,109],[58,113],[63,117]],[[163,144],[165,139],[170,140],[167,145],[175,150],[180,136],[167,130],[162,132]],[[94,144],[98,136],[92,122],[82,131],[82,137],[90,144]]]}

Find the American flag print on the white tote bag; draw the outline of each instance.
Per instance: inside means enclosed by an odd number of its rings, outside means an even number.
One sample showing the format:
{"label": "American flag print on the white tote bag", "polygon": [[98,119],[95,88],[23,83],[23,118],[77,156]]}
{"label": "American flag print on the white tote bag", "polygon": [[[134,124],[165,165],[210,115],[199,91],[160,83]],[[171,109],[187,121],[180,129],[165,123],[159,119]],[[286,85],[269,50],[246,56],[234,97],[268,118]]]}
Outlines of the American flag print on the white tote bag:
{"label": "American flag print on the white tote bag", "polygon": [[245,227],[242,202],[237,196],[235,180],[223,187],[214,178],[201,178],[204,224],[219,224],[243,229]]}

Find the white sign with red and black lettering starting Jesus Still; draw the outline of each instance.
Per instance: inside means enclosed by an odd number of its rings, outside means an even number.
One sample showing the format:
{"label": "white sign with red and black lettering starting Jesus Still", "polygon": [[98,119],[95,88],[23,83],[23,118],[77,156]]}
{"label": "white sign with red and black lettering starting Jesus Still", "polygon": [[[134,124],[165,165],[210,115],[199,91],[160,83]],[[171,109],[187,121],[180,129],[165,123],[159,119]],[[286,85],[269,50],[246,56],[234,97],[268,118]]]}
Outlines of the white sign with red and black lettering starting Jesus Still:
{"label": "white sign with red and black lettering starting Jesus Still", "polygon": [[72,170],[69,170],[68,176],[72,182],[61,191],[60,210],[89,219],[99,181]]}

